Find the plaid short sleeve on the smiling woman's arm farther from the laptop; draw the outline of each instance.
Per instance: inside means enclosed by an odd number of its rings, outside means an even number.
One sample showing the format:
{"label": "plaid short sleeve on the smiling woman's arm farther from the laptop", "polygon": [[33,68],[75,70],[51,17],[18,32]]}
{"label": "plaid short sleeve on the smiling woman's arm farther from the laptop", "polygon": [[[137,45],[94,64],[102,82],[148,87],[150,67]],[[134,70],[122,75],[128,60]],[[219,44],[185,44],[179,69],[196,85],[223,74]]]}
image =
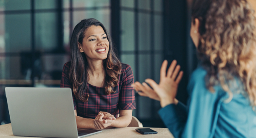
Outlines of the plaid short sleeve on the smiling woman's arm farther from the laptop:
{"label": "plaid short sleeve on the smiling woman's arm farther from the laptop", "polygon": [[121,90],[119,93],[118,109],[133,110],[136,109],[134,88],[131,84],[134,83],[133,71],[131,66],[127,65],[123,74]]}

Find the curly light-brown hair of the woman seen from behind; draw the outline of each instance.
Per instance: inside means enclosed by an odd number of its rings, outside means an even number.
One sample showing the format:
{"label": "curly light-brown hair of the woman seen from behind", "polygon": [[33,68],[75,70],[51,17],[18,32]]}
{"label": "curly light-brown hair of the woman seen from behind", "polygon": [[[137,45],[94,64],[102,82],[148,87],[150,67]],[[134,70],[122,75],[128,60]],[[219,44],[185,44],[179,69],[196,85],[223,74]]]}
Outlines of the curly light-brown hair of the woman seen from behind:
{"label": "curly light-brown hair of the woman seen from behind", "polygon": [[[252,106],[256,106],[256,34],[253,9],[246,0],[195,0],[192,21],[199,19],[202,66],[206,87],[220,84],[229,93],[228,82],[240,78]],[[194,23],[194,22],[192,22]]]}

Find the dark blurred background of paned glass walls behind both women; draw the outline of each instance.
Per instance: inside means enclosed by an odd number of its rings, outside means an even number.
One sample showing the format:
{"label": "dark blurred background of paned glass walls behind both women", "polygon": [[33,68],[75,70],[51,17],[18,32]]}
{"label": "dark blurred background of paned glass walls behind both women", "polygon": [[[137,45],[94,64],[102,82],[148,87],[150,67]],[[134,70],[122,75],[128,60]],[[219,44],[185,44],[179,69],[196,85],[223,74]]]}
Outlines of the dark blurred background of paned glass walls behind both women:
{"label": "dark blurred background of paned glass walls behind both women", "polygon": [[[10,123],[5,87],[60,87],[69,41],[82,19],[96,18],[110,32],[120,60],[135,81],[159,82],[164,59],[185,72],[178,100],[197,66],[189,36],[191,0],[0,0],[0,123]],[[158,101],[136,94],[133,115],[144,127],[165,127]]]}

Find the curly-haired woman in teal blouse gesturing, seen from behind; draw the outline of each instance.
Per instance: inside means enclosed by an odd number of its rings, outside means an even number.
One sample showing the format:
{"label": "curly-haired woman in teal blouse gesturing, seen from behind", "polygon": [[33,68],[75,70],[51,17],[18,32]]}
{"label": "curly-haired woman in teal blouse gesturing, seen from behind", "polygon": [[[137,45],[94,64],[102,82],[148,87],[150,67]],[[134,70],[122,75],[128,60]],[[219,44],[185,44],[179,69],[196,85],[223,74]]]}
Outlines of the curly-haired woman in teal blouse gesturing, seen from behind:
{"label": "curly-haired woman in teal blouse gesturing, seen from behind", "polygon": [[188,83],[188,106],[175,99],[183,72],[172,61],[153,89],[139,94],[159,100],[159,115],[175,138],[256,138],[256,35],[247,0],[195,0],[191,38],[200,66]]}

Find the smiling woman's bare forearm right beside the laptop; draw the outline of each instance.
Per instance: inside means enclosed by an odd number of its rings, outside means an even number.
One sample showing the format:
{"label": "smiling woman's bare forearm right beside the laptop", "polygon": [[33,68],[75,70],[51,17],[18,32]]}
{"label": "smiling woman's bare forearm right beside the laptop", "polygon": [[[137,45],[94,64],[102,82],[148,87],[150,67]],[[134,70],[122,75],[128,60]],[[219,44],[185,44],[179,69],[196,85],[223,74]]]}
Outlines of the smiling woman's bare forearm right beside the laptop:
{"label": "smiling woman's bare forearm right beside the laptop", "polygon": [[82,118],[76,115],[77,128],[96,129],[94,126],[94,119]]}

